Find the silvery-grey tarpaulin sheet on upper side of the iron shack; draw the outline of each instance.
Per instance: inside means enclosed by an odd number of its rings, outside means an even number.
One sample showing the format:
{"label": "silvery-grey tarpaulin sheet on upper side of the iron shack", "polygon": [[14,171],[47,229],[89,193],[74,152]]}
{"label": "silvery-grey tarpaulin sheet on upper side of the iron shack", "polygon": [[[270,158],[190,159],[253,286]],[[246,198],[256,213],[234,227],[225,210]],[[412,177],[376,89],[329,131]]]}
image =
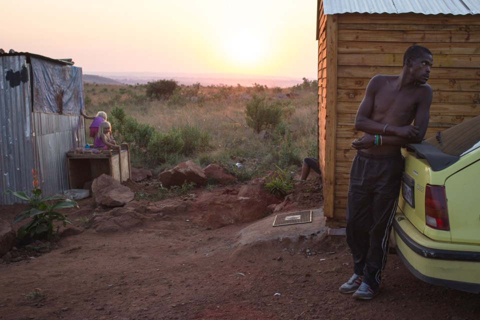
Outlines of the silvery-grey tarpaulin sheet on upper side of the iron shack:
{"label": "silvery-grey tarpaulin sheet on upper side of the iron shack", "polygon": [[31,57],[33,111],[80,114],[83,105],[81,68]]}

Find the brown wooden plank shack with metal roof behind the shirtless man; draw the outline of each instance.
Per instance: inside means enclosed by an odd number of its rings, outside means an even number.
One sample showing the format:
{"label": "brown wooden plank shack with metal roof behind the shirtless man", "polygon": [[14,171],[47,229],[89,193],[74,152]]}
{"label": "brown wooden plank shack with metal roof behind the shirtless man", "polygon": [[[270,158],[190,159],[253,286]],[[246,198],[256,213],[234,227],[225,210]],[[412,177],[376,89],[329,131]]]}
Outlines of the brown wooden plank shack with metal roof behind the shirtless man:
{"label": "brown wooden plank shack with metal roof behind the shirtless man", "polygon": [[318,162],[331,227],[346,223],[356,152],[350,143],[361,135],[353,123],[366,85],[376,74],[399,74],[408,46],[420,44],[433,54],[425,138],[480,114],[480,2],[396,2],[402,3],[317,2]]}

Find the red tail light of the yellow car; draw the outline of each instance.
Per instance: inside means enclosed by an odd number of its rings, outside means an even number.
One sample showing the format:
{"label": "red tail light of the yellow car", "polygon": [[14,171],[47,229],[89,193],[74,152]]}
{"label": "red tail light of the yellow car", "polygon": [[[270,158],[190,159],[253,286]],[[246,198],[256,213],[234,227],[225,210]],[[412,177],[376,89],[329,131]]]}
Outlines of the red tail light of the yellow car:
{"label": "red tail light of the yellow car", "polygon": [[437,230],[450,229],[443,185],[425,186],[425,224]]}

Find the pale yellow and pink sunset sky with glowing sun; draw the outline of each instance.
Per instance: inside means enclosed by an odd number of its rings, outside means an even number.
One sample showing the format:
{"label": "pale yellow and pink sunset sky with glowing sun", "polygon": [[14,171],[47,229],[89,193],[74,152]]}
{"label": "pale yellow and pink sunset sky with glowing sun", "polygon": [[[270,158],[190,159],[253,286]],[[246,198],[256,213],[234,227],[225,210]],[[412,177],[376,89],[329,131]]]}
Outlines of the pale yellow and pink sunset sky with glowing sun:
{"label": "pale yellow and pink sunset sky with glowing sun", "polygon": [[315,0],[2,1],[6,52],[101,72],[316,78]]}

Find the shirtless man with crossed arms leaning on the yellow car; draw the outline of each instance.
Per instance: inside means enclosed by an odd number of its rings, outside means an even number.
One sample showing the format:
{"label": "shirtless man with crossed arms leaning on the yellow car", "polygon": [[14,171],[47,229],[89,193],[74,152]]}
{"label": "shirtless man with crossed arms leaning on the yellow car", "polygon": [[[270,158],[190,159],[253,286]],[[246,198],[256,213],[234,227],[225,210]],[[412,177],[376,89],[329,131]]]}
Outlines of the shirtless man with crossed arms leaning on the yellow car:
{"label": "shirtless man with crossed arms leaning on the yellow car", "polygon": [[363,136],[351,143],[357,153],[346,207],[354,273],[339,290],[354,292],[357,299],[371,299],[379,291],[403,171],[400,147],[420,143],[425,135],[432,100],[426,81],[432,62],[427,48],[410,46],[399,75],[371,78],[356,113],[355,129]]}

